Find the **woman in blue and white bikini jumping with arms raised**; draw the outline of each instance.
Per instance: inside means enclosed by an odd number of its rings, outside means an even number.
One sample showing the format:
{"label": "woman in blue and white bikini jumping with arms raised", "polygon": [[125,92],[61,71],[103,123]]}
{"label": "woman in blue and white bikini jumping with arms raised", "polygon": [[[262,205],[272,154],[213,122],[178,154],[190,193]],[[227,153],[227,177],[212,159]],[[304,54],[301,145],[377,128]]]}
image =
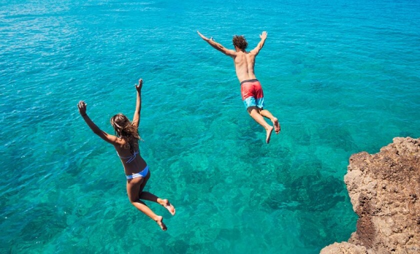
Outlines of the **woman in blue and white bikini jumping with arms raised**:
{"label": "woman in blue and white bikini jumping with arms raised", "polygon": [[141,157],[138,147],[138,140],[140,139],[138,135],[138,123],[140,121],[142,84],[143,80],[140,78],[138,85],[135,85],[137,99],[132,122],[121,113],[111,117],[111,125],[115,130],[116,136],[106,133],[93,123],[86,114],[86,103],[83,100],[78,102],[77,107],[80,115],[92,131],[115,147],[124,166],[125,176],[127,178],[127,194],[131,204],[156,221],[162,230],[166,230],[167,227],[162,221],[162,216],[156,215],[144,202],[140,201],[140,199],[143,199],[159,203],[172,215],[175,214],[175,208],[167,199],[160,199],[150,192],[143,191],[144,185],[146,185],[147,180],[150,178],[150,171],[146,162]]}

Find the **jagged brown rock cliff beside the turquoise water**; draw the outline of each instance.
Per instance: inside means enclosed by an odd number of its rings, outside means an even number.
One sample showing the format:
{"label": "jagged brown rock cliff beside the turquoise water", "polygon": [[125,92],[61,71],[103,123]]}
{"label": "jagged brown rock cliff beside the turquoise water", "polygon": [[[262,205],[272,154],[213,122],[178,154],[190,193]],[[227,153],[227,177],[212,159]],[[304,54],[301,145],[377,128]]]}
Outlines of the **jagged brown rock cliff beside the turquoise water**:
{"label": "jagged brown rock cliff beside the turquoise water", "polygon": [[344,176],[357,229],[326,253],[420,253],[420,139],[395,137],[350,157]]}

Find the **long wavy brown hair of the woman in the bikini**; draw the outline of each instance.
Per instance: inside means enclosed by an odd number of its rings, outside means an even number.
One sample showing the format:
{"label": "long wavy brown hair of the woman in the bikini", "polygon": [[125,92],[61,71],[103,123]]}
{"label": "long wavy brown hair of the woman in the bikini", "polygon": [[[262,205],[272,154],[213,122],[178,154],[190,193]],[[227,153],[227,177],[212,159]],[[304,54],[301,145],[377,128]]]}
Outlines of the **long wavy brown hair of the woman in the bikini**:
{"label": "long wavy brown hair of the woman in the bikini", "polygon": [[111,117],[111,125],[115,130],[116,136],[124,139],[124,148],[130,149],[131,154],[133,154],[140,139],[137,128],[121,113]]}

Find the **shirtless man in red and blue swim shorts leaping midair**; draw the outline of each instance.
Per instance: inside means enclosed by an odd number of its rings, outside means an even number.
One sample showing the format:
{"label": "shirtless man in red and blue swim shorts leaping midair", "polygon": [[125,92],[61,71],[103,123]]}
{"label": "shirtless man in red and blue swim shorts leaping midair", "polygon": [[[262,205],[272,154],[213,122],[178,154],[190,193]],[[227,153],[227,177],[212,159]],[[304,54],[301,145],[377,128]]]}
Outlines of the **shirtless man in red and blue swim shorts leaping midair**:
{"label": "shirtless man in red and blue swim shorts leaping midair", "polygon": [[[267,38],[267,32],[263,31],[261,35],[259,35],[261,40],[258,42],[258,45],[249,52],[245,51],[248,42],[246,42],[242,35],[233,36],[233,46],[235,47],[235,50],[232,50],[215,42],[212,37],[207,38],[199,31],[197,31],[197,33],[203,40],[207,41],[210,46],[233,58],[236,75],[240,82],[240,92],[242,94],[243,103],[245,104],[249,115],[264,127],[266,131],[265,141],[268,143],[273,128],[276,134],[280,132],[280,124],[278,123],[277,118],[275,118],[267,109],[263,109],[264,94],[262,92],[261,84],[254,74],[255,56],[264,45],[265,39]],[[269,125],[262,116],[270,119],[274,127]]]}

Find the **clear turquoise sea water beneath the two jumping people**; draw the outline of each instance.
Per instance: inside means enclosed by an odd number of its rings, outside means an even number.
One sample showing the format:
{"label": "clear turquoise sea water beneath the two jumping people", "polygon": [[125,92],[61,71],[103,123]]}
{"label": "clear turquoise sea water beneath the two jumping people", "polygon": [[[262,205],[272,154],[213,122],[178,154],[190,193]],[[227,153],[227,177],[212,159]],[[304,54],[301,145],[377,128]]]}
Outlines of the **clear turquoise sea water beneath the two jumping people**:
{"label": "clear turquoise sea water beneath the two jumping people", "polygon": [[[252,11],[250,11],[252,10]],[[357,216],[350,154],[420,136],[418,1],[7,1],[0,10],[1,252],[316,253]],[[233,63],[195,31],[252,48],[281,134],[264,144]],[[146,189],[129,204],[112,132],[142,77]]]}

